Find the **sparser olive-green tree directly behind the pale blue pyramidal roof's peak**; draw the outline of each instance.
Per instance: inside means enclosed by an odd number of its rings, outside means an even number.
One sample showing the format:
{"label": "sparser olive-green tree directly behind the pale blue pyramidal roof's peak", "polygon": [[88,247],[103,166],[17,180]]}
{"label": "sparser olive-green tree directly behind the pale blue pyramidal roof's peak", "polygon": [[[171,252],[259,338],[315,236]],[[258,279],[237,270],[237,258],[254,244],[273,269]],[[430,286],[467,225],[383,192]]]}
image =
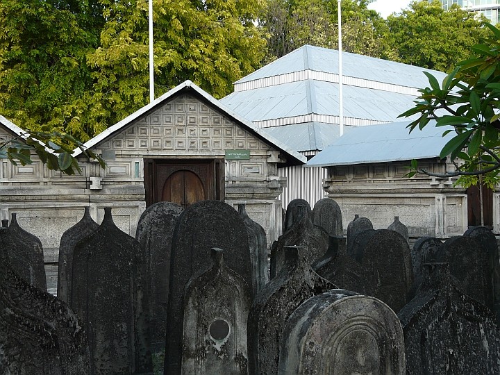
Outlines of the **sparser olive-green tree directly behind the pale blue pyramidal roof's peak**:
{"label": "sparser olive-green tree directly behind the pale blue pyramidal roof's peak", "polygon": [[[342,1],[342,49],[377,58],[393,56],[383,38],[385,21],[367,8],[369,2]],[[338,48],[337,0],[269,0],[261,24],[268,35],[267,61],[303,44]]]}

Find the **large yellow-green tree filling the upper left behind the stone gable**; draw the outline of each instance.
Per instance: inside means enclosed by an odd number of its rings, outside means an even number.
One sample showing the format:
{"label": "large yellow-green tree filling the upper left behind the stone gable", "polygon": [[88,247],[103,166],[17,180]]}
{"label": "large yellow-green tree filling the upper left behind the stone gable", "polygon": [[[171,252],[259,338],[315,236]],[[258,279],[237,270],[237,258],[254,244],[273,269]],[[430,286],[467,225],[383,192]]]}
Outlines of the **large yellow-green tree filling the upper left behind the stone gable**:
{"label": "large yellow-green tree filling the upper left behind the stone gable", "polygon": [[[155,0],[156,96],[260,67],[264,0]],[[0,1],[0,113],[86,141],[149,102],[148,0]]]}

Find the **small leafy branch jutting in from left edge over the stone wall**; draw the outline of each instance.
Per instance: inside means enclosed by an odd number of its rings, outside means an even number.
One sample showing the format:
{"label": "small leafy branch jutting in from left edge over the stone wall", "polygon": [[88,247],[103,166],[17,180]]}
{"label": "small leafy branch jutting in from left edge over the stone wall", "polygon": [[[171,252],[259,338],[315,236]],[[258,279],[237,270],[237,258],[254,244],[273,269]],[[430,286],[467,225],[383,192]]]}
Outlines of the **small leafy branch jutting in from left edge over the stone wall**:
{"label": "small leafy branch jutting in from left edge over the stone wall", "polygon": [[74,149],[80,149],[90,159],[96,160],[101,168],[106,167],[104,160],[72,135],[58,132],[31,131],[20,133],[11,139],[0,138],[0,158],[8,158],[17,165],[32,164],[32,151],[38,155],[42,163],[52,170],[60,170],[63,174],[81,174],[78,160],[72,155]]}

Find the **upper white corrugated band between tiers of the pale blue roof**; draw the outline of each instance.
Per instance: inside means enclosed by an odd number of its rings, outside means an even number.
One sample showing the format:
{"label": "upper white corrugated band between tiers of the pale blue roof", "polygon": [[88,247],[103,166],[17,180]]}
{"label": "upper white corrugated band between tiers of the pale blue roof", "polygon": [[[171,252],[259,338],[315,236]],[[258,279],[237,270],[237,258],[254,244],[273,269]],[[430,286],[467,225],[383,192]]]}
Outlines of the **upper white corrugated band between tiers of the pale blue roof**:
{"label": "upper white corrugated band between tiers of the pale blue roof", "polygon": [[[283,83],[304,81],[306,79],[339,83],[338,74],[315,72],[313,70],[302,70],[301,72],[292,72],[288,74],[281,74],[280,76],[272,76],[272,77],[256,79],[253,81],[235,83],[234,90],[235,92],[242,92],[247,90],[255,90],[259,88],[267,88],[269,86],[283,85]],[[417,88],[411,88],[402,85],[394,85],[391,83],[371,81],[369,79],[364,79],[364,78],[344,76],[342,83],[344,83],[344,85],[356,86],[358,88],[369,88],[374,90],[395,92],[397,94],[414,95],[415,97],[419,95]]]}

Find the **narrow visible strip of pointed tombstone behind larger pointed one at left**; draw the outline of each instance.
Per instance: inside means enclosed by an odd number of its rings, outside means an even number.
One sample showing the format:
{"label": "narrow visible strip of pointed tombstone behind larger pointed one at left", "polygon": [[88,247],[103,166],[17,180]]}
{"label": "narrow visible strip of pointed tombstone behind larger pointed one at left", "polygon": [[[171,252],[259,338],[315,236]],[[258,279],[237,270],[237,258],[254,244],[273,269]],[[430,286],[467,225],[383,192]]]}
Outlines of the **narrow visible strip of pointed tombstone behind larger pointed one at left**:
{"label": "narrow visible strip of pointed tombstone behind larger pointed one at left", "polygon": [[58,298],[69,303],[69,291],[72,289],[73,252],[76,244],[97,231],[99,224],[90,217],[90,208],[85,206],[83,218],[61,236],[58,262]]}

